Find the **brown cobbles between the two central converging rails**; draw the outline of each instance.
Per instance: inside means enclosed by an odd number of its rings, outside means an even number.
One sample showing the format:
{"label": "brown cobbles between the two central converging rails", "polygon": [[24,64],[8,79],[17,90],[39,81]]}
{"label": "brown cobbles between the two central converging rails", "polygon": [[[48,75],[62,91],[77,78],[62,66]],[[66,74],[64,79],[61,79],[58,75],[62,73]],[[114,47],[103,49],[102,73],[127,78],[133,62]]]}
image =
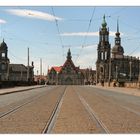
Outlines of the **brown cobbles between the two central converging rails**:
{"label": "brown cobbles between the two central converging rails", "polygon": [[53,133],[101,133],[73,87],[68,87]]}

